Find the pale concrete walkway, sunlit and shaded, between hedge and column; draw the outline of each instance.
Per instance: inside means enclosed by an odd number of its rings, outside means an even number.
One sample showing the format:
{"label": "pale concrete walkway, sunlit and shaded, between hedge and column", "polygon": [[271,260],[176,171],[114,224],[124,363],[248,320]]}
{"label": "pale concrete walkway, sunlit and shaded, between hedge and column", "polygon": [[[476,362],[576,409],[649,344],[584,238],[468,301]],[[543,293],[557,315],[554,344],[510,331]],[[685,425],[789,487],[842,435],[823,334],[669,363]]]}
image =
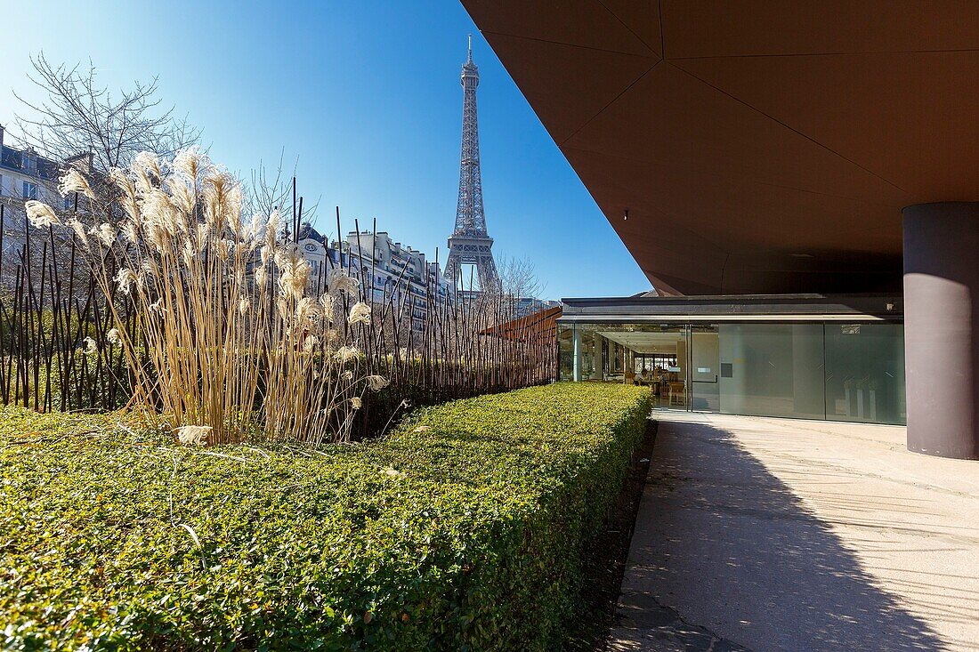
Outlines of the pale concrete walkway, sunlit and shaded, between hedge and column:
{"label": "pale concrete walkway, sunlit and shaded, between hedge and column", "polygon": [[979,650],[979,462],[658,412],[610,650]]}

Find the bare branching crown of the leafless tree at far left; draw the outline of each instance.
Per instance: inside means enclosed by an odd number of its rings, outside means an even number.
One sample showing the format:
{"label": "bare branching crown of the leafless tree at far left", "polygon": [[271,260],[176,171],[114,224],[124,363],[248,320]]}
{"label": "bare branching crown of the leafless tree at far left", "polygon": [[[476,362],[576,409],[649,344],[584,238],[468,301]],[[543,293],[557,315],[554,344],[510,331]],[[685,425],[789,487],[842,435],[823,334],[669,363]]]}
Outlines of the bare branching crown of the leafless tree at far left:
{"label": "bare branching crown of the leafless tree at far left", "polygon": [[157,77],[113,94],[99,85],[91,62],[87,68],[56,65],[43,52],[30,62],[27,78],[44,97],[34,103],[15,93],[26,110],[17,123],[23,140],[53,159],[91,153],[92,171],[106,174],[127,167],[140,152],[169,158],[200,142],[200,129],[161,106]]}

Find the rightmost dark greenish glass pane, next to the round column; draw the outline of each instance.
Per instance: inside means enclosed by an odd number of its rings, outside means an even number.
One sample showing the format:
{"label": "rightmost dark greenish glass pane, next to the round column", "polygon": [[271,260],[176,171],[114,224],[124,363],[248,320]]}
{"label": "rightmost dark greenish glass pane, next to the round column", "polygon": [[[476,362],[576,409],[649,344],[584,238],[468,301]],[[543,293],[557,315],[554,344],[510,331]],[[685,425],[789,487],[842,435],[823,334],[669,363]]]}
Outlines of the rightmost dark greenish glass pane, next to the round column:
{"label": "rightmost dark greenish glass pane, next to the round column", "polygon": [[904,331],[902,324],[825,325],[827,419],[907,423]]}

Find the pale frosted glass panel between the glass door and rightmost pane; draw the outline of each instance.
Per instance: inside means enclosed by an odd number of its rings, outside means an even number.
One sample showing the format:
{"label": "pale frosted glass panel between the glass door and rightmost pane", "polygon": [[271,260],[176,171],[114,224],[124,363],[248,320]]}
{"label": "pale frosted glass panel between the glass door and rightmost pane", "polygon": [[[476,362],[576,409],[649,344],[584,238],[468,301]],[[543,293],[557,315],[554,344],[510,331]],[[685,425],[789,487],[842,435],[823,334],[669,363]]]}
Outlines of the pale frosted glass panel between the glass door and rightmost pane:
{"label": "pale frosted glass panel between the glass door and rightmost pane", "polygon": [[721,324],[725,414],[824,418],[821,324]]}

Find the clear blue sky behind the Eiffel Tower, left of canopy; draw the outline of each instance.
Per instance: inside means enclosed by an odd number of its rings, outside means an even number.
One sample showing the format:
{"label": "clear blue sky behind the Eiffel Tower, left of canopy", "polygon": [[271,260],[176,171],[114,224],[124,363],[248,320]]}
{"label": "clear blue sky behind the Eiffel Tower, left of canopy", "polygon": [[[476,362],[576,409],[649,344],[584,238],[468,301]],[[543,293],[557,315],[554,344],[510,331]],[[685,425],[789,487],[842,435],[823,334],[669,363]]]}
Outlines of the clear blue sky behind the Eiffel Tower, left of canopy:
{"label": "clear blue sky behind the Eiffel Tower, left of canopy", "polygon": [[483,188],[494,254],[530,257],[548,299],[649,283],[456,0],[19,3],[4,12],[0,123],[36,97],[28,56],[92,62],[110,90],[160,77],[210,155],[248,174],[299,159],[301,193],[333,233],[374,217],[430,256],[455,219],[462,89],[473,33]]}

